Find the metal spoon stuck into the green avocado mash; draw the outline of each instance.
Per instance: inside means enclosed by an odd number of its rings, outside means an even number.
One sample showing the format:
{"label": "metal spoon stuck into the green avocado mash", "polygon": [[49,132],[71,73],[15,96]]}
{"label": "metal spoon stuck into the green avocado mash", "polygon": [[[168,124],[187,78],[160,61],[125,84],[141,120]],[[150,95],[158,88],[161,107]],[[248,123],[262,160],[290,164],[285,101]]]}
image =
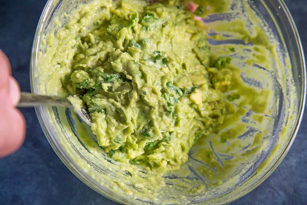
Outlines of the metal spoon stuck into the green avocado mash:
{"label": "metal spoon stuck into the green avocado mash", "polygon": [[72,109],[89,126],[92,124],[91,116],[84,107],[72,104],[65,97],[34,95],[32,93],[21,92],[21,98],[17,107],[34,107],[38,105],[61,106]]}

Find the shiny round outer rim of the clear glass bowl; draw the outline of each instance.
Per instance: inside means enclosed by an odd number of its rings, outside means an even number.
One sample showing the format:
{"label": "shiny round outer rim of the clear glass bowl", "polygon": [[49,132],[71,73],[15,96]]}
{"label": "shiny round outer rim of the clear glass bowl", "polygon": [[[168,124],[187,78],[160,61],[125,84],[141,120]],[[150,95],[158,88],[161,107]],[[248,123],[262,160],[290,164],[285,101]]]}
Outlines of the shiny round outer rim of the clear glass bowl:
{"label": "shiny round outer rim of the clear glass bowl", "polygon": [[[301,68],[303,70],[302,72],[302,79],[303,79],[303,88],[302,88],[302,93],[301,93],[301,102],[298,106],[298,117],[296,120],[296,124],[295,124],[295,128],[293,130],[292,136],[286,146],[286,148],[283,150],[283,152],[280,154],[280,156],[278,157],[278,160],[275,161],[274,165],[265,173],[263,174],[263,176],[258,180],[257,183],[249,186],[247,189],[245,189],[243,192],[241,192],[238,195],[235,195],[235,197],[229,197],[227,201],[224,201],[223,203],[230,203],[233,202],[235,200],[238,200],[239,198],[242,198],[243,196],[247,195],[248,193],[250,193],[252,190],[254,190],[256,187],[258,187],[264,180],[266,180],[271,174],[272,172],[278,167],[278,165],[282,162],[282,160],[285,158],[286,154],[289,152],[294,139],[297,136],[297,132],[300,128],[300,124],[304,115],[304,109],[305,109],[305,101],[306,101],[306,64],[305,64],[305,56],[304,56],[304,51],[303,51],[303,46],[301,43],[301,39],[296,27],[296,24],[293,20],[292,15],[290,14],[290,11],[288,9],[288,7],[286,6],[285,2],[283,0],[276,0],[280,6],[281,9],[284,10],[285,14],[286,14],[286,18],[288,19],[289,23],[290,23],[290,28],[292,30],[293,33],[293,37],[295,37],[296,40],[296,44],[299,47],[299,54],[300,54],[300,58],[301,58]],[[39,19],[38,25],[37,25],[37,29],[35,32],[35,37],[34,37],[34,41],[33,41],[33,46],[32,46],[32,51],[31,51],[31,57],[30,57],[30,86],[31,86],[31,92],[35,93],[35,94],[39,94],[37,92],[38,87],[37,85],[35,85],[34,82],[34,69],[37,66],[36,63],[36,59],[37,59],[37,55],[39,53],[39,43],[40,43],[40,39],[41,36],[39,34],[42,34],[42,30],[43,30],[43,26],[44,23],[46,21],[47,18],[47,14],[50,15],[49,11],[51,10],[51,7],[54,6],[56,3],[58,2],[58,0],[48,0],[43,11],[41,14],[41,17]],[[73,160],[71,159],[70,156],[63,156],[62,152],[63,150],[60,150],[59,147],[56,146],[55,142],[52,140],[52,127],[48,126],[48,124],[45,123],[45,121],[43,120],[43,116],[45,115],[45,111],[44,108],[41,106],[35,107],[35,112],[39,121],[39,124],[41,125],[41,128],[44,132],[45,137],[47,138],[49,144],[51,145],[52,149],[54,150],[54,152],[56,153],[56,155],[60,158],[60,160],[65,164],[65,166],[78,178],[80,179],[84,184],[86,184],[88,187],[90,187],[91,189],[93,189],[94,191],[96,191],[97,193],[103,195],[104,197],[111,199],[115,202],[118,203],[122,203],[122,204],[130,204],[127,199],[121,197],[121,196],[117,196],[115,198],[114,193],[109,193],[108,190],[98,190],[97,189],[97,184],[91,182],[91,180],[88,179],[92,179],[91,176],[89,176],[87,173],[84,172],[82,173],[82,170],[80,170],[80,168],[78,166],[76,166],[75,164],[73,164]],[[100,186],[102,187],[102,186]],[[134,202],[134,201],[131,201]],[[141,201],[139,201],[141,202]]]}

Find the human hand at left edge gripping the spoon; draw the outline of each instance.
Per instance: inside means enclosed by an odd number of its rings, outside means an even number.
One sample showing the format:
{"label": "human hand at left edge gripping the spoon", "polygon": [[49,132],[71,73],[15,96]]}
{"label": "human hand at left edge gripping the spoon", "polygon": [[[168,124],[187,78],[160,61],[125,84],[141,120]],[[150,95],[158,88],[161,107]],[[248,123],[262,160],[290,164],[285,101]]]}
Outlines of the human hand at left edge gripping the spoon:
{"label": "human hand at left edge gripping the spoon", "polygon": [[9,59],[0,50],[0,157],[20,148],[25,139],[25,118],[15,107],[20,100],[20,88],[11,75]]}

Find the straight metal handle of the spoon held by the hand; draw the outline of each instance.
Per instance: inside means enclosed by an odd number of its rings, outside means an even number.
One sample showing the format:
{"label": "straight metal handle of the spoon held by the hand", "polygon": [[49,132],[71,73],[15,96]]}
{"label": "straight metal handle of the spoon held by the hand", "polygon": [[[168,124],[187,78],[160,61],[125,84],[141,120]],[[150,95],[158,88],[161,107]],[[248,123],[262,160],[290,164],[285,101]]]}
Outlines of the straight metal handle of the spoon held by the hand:
{"label": "straight metal handle of the spoon held by the hand", "polygon": [[21,92],[21,98],[17,107],[27,108],[38,105],[62,106],[72,108],[72,104],[64,97],[34,95],[32,93]]}

